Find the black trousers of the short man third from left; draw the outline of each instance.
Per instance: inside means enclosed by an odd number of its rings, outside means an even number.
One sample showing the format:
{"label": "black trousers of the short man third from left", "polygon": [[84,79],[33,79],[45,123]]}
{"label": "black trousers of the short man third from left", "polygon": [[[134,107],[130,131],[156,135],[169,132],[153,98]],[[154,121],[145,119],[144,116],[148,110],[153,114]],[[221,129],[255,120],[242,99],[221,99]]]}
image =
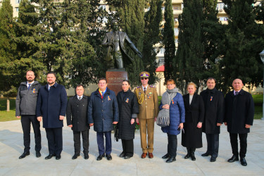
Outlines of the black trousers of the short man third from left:
{"label": "black trousers of the short man third from left", "polygon": [[81,151],[81,133],[82,133],[82,147],[83,153],[89,153],[89,130],[77,132],[73,131],[73,141],[74,141],[74,153],[80,154]]}

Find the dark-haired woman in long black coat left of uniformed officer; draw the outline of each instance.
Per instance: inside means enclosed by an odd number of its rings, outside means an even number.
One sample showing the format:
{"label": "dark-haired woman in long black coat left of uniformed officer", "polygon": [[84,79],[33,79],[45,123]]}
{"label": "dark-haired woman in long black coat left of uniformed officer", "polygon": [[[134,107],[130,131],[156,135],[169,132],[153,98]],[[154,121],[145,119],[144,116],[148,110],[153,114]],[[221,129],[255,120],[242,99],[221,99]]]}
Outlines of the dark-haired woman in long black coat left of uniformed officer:
{"label": "dark-haired woman in long black coat left of uniformed officer", "polygon": [[118,92],[118,138],[122,139],[122,153],[120,157],[125,159],[131,158],[134,154],[134,119],[137,118],[139,107],[136,96],[130,90],[130,81],[122,81],[122,91]]}

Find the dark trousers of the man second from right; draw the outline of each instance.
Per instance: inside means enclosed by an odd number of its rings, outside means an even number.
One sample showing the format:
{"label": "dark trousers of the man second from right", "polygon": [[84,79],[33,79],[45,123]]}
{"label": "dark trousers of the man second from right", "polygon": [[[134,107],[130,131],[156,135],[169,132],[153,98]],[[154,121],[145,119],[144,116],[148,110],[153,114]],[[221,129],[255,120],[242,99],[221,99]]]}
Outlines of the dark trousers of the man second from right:
{"label": "dark trousers of the man second from right", "polygon": [[207,151],[213,158],[218,157],[219,150],[219,134],[206,134]]}

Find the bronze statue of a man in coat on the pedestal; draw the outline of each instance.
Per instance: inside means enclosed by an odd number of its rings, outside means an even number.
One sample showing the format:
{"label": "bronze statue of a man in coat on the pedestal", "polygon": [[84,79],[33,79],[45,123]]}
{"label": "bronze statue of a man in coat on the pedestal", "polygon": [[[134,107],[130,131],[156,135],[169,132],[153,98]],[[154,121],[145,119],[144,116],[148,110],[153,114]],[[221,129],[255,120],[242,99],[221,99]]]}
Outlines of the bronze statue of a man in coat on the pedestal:
{"label": "bronze statue of a man in coat on the pedestal", "polygon": [[[136,46],[132,43],[130,38],[125,32],[118,30],[117,20],[112,20],[111,22],[112,32],[108,32],[106,37],[103,39],[103,46],[108,46],[106,61],[108,68],[124,68],[123,54],[127,56],[130,63],[134,61],[134,58],[128,56],[127,51],[125,51],[125,41],[129,44],[130,48],[142,58],[142,53],[137,49]],[[116,65],[115,65],[116,62]]]}

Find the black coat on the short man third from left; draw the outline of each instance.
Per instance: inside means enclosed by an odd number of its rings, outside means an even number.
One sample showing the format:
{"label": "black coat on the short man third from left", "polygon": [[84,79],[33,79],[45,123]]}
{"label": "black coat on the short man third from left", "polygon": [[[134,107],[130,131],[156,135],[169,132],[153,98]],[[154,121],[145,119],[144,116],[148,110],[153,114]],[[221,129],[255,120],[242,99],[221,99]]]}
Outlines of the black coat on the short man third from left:
{"label": "black coat on the short man third from left", "polygon": [[69,99],[66,118],[67,125],[73,125],[73,131],[82,132],[90,129],[87,118],[88,102],[89,97],[85,95],[81,100],[77,98],[77,95]]}

